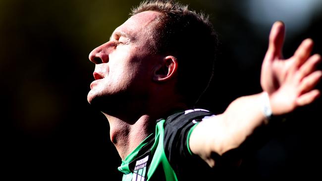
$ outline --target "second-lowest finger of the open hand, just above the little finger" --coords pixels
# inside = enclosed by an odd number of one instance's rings
[[[312,90],[319,83],[321,78],[322,78],[322,71],[320,70],[315,71],[312,74],[305,77],[299,86],[300,94],[303,94]]]

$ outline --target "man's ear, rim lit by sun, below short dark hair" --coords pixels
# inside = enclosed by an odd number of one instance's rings
[[[178,61],[174,56],[164,57],[160,64],[155,67],[153,80],[164,82],[174,78],[178,69]]]

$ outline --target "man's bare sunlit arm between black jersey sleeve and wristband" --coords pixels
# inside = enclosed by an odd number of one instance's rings
[[[263,92],[237,98],[214,120],[199,123],[190,136],[191,151],[214,166],[214,153],[221,156],[240,147],[257,128],[269,124],[263,113],[263,101]]]

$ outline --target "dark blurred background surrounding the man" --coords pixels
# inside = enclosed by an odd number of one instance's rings
[[[140,0],[0,0],[1,169],[11,179],[121,179],[109,126],[86,96],[89,52],[108,41]],[[274,21],[286,24],[284,56],[305,38],[322,53],[321,0],[181,0],[211,15],[220,47],[215,80],[200,107],[221,113],[257,93]],[[320,66],[321,68],[321,66]],[[321,84],[318,85],[321,90]],[[260,150],[246,155],[245,179],[315,178],[320,172],[321,98],[289,115]]]

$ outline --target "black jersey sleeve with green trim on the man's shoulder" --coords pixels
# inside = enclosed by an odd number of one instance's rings
[[[163,139],[164,152],[172,169],[180,178],[179,180],[203,178],[205,175],[198,173],[204,173],[210,169],[204,160],[190,151],[188,138],[196,124],[205,116],[212,115],[208,111],[193,111],[177,113],[166,119]]]

